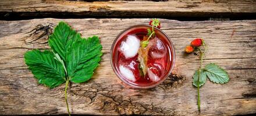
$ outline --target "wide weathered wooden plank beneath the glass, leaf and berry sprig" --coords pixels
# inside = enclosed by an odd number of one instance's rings
[[[68,101],[72,114],[92,115],[242,115],[256,113],[256,20],[162,21],[162,30],[176,49],[172,75],[153,89],[131,89],[113,73],[109,52],[115,37],[130,24],[149,19],[65,19],[83,37],[99,35],[103,46],[101,65],[93,79],[70,84]],[[0,21],[0,114],[66,114],[65,85],[48,89],[24,64],[24,53],[49,49],[47,40],[59,19]],[[191,84],[200,61],[184,55],[193,38],[209,45],[204,64],[216,63],[230,75],[227,84],[207,81],[201,90]]]

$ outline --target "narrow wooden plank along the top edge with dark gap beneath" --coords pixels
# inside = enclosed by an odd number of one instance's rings
[[[1,0],[0,16],[243,17],[256,15],[255,0],[57,1]]]

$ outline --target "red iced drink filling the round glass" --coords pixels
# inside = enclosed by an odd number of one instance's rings
[[[127,28],[116,37],[111,48],[111,64],[116,75],[133,88],[152,88],[163,82],[175,63],[175,51],[168,36],[154,28],[155,36],[146,47],[147,28],[138,25]]]

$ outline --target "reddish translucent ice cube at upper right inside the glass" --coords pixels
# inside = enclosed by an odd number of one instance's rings
[[[154,45],[151,46],[151,48],[150,48],[150,56],[153,59],[159,59],[159,58],[162,58],[163,56],[165,56],[166,55],[166,47],[165,47],[165,45],[163,45],[163,42],[158,38],[154,38],[154,40],[152,40],[152,42],[154,42]]]

